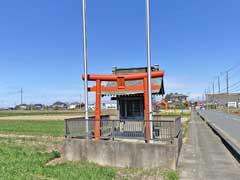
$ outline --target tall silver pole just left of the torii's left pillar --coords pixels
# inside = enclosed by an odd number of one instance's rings
[[[85,120],[86,136],[88,138],[88,69],[87,69],[87,20],[86,20],[86,0],[82,0],[82,28],[83,28],[83,58],[84,58],[84,101],[85,101]]]

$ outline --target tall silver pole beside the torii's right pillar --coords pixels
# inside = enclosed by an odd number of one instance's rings
[[[146,31],[147,31],[147,73],[148,73],[148,111],[150,139],[153,138],[152,129],[152,68],[151,68],[151,35],[150,35],[150,0],[146,0]]]

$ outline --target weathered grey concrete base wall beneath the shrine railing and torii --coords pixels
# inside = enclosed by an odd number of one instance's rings
[[[113,167],[176,169],[181,143],[181,133],[169,145],[66,139],[64,158]]]

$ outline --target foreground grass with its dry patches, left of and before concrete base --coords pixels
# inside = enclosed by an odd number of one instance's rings
[[[88,162],[49,162],[60,157],[63,143],[57,138],[0,137],[0,180],[178,180],[176,171],[168,169],[112,168]],[[53,146],[56,145],[56,146]]]

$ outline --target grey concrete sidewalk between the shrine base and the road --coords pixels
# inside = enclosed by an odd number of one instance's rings
[[[240,165],[194,112],[179,159],[181,179],[240,180]]]

